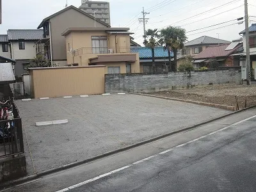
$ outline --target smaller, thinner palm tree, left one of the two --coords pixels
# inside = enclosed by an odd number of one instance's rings
[[[148,29],[146,31],[146,40],[143,42],[145,47],[148,47],[152,51],[152,70],[156,72],[156,64],[155,64],[155,47],[159,45],[159,31],[157,29]]]

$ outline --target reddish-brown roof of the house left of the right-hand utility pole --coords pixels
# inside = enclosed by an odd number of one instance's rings
[[[239,49],[242,44],[237,45],[234,49],[225,51],[229,44],[226,45],[214,45],[211,47],[207,47],[204,51],[197,54],[193,57],[195,60],[198,59],[207,59],[207,58],[218,58],[218,57],[226,57],[232,54],[232,52]]]

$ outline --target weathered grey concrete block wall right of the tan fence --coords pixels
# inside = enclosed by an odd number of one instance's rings
[[[170,72],[166,74],[106,74],[105,92],[151,93],[187,86],[241,83],[241,70]]]

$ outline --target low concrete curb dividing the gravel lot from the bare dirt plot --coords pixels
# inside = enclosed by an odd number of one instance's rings
[[[192,103],[192,104],[198,104],[198,105],[201,105],[201,106],[209,106],[209,107],[213,107],[213,108],[225,109],[225,110],[228,110],[228,111],[236,111],[236,107],[234,107],[234,106],[224,106],[224,105],[213,104],[213,103],[208,103],[208,102],[199,102],[199,101],[195,101],[195,100],[176,99],[176,98],[172,98],[172,97],[161,97],[161,96],[148,95],[148,94],[142,94],[142,93],[131,93],[131,94],[142,95],[142,96],[147,96],[147,97],[156,97],[156,98],[159,98],[159,99],[175,100],[175,101],[180,101],[180,102],[188,102],[188,103]]]

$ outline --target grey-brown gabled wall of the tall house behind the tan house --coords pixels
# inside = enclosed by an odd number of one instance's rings
[[[77,10],[69,9],[50,19],[52,39],[52,60],[67,60],[65,36],[61,33],[67,28],[94,28],[94,20]],[[97,28],[106,28],[103,24],[96,22]]]

